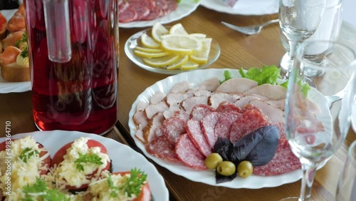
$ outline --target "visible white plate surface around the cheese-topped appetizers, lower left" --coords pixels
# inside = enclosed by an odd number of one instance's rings
[[[88,137],[93,140],[98,140],[100,143],[103,143],[108,150],[110,159],[112,160],[113,172],[123,172],[129,171],[131,168],[139,168],[147,173],[152,196],[155,197],[155,200],[169,200],[169,192],[162,175],[159,174],[155,166],[143,155],[132,150],[132,148],[127,145],[123,145],[110,138],[104,138],[100,135],[63,130],[21,133],[12,135],[11,139],[23,138],[26,135],[32,135],[38,143],[41,143],[48,150],[51,157],[53,157],[56,151],[63,145],[66,145],[66,143],[70,143],[77,138]],[[0,143],[5,139],[6,138],[0,138]]]

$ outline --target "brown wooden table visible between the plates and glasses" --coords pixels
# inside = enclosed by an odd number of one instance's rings
[[[191,15],[168,24],[168,26],[179,22],[189,32],[206,33],[219,42],[221,56],[209,68],[251,68],[272,64],[278,66],[285,53],[280,41],[278,24],[266,27],[255,36],[245,36],[220,24],[220,21],[241,26],[261,24],[277,17],[276,14],[234,16],[199,6]],[[340,40],[354,43],[356,47],[356,37],[350,34],[353,29],[351,26],[343,24]],[[125,55],[123,51],[125,41],[133,33],[141,30],[120,29],[119,120],[116,127],[105,135],[105,137],[126,143],[136,150],[128,128],[131,105],[145,88],[167,77],[167,75],[145,71],[132,63]],[[355,33],[355,30],[353,33]],[[33,123],[31,104],[30,91],[0,94],[0,128],[2,129],[0,137],[5,136],[4,130],[7,120],[11,121],[12,135],[38,130]],[[340,170],[345,162],[347,148],[353,140],[356,140],[356,135],[350,128],[347,139],[340,150],[322,169],[318,170],[313,184],[314,200],[333,200]],[[170,200],[280,200],[283,197],[298,196],[300,190],[300,180],[279,187],[265,187],[256,190],[215,187],[187,180],[185,177],[175,175],[159,165],[156,165],[156,167],[166,181]]]

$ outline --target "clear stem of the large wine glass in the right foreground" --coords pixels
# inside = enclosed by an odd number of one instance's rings
[[[303,169],[302,186],[300,187],[300,198],[299,201],[310,201],[311,199],[311,189],[313,186],[313,181],[315,177],[315,172],[318,168],[317,163],[312,163],[308,160],[300,159]]]

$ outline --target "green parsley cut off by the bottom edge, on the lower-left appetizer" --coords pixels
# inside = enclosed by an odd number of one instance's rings
[[[34,201],[41,198],[41,200],[62,201],[69,200],[69,198],[63,192],[59,192],[56,189],[49,189],[44,180],[36,178],[36,182],[32,185],[25,185],[22,190],[25,197],[22,201]]]

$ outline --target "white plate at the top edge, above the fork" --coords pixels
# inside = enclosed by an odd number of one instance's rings
[[[200,4],[226,14],[261,16],[278,13],[278,0],[238,0],[235,9],[226,5],[223,0],[201,0]]]

